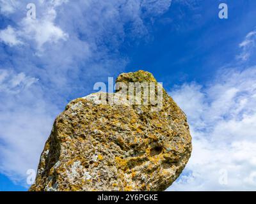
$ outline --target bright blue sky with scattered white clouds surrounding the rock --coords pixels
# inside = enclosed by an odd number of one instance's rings
[[[0,191],[28,189],[26,171],[68,101],[138,69],[163,82],[191,127],[193,154],[168,190],[256,189],[255,6],[0,0]]]

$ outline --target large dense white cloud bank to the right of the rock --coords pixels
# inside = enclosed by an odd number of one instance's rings
[[[184,84],[170,95],[188,116],[193,152],[169,190],[255,190],[256,67],[222,70],[207,87]]]

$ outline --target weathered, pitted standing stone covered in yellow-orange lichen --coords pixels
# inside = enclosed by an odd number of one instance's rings
[[[146,71],[123,73],[116,82],[153,82]],[[162,88],[161,88],[162,89]],[[163,191],[191,154],[186,115],[163,89],[154,105],[102,104],[127,96],[98,92],[68,103],[55,120],[29,191]]]

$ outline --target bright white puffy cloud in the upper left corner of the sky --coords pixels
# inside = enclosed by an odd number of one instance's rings
[[[8,25],[6,29],[0,31],[0,40],[10,46],[22,44],[20,40],[17,40],[18,38],[28,43],[33,40],[40,52],[44,51],[42,47],[45,43],[58,43],[59,40],[67,40],[68,34],[54,25],[56,7],[67,3],[67,1],[50,1],[49,3],[40,1],[40,4],[44,5],[43,3],[46,6],[44,6],[41,17],[31,19],[24,16],[18,23],[19,27],[16,30]],[[26,8],[26,4],[20,4],[20,8],[22,6]]]

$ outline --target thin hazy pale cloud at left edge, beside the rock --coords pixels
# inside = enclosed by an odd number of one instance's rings
[[[0,96],[0,171],[20,182],[36,168],[58,109],[36,78],[13,69],[0,69]]]

